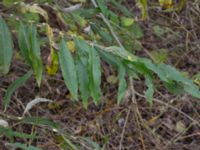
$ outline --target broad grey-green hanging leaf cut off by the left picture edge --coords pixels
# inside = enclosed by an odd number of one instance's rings
[[[0,75],[5,75],[9,72],[12,55],[13,43],[11,33],[3,18],[0,17]]]

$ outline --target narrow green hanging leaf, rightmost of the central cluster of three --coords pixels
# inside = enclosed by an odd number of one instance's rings
[[[89,89],[95,104],[98,104],[101,96],[101,62],[95,48],[90,49],[89,54]]]

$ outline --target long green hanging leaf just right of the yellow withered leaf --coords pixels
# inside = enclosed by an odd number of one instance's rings
[[[62,75],[72,97],[78,100],[78,80],[74,59],[64,40],[60,43],[58,53]]]

